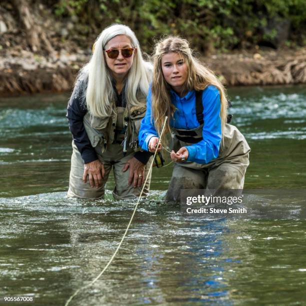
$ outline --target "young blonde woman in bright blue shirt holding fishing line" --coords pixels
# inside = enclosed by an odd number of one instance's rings
[[[153,81],[141,121],[139,145],[154,152],[165,116],[173,135],[175,162],[166,200],[179,200],[180,189],[242,189],[250,148],[228,124],[227,100],[215,75],[192,56],[185,39],[157,43]],[[162,143],[165,143],[163,137]]]

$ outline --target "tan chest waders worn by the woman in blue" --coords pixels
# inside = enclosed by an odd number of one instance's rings
[[[200,125],[193,129],[171,127],[173,134],[173,149],[177,151],[182,146],[197,143],[203,139],[202,128],[203,104],[202,91],[195,93],[196,118]],[[230,121],[231,115],[227,116]],[[225,123],[222,131],[222,141],[219,154],[208,163],[175,162],[172,177],[165,196],[167,201],[179,201],[181,189],[242,189],[244,174],[249,164],[248,146],[239,130]]]

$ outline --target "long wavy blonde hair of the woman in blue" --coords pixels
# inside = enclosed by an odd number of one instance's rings
[[[160,131],[165,116],[169,118],[172,117],[175,110],[174,105],[171,103],[170,86],[165,81],[161,69],[162,56],[169,52],[178,53],[187,65],[188,76],[186,82],[183,84],[183,90],[203,90],[208,85],[214,85],[218,88],[221,100],[221,129],[223,130],[223,126],[226,123],[228,107],[224,86],[211,70],[206,68],[192,55],[192,51],[186,39],[177,36],[169,36],[156,44],[153,55],[152,116],[156,131]],[[168,122],[166,131],[170,129]],[[162,140],[165,141],[165,139],[166,138],[163,137]]]

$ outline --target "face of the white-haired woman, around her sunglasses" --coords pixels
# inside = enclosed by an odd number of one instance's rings
[[[110,69],[112,76],[115,79],[121,79],[124,77],[129,68],[133,63],[133,58],[136,52],[134,49],[132,56],[123,57],[121,50],[119,50],[118,56],[116,58],[109,58],[105,50],[109,49],[121,49],[121,48],[132,48],[130,39],[125,35],[117,35],[109,39],[104,47],[104,57],[107,67]]]

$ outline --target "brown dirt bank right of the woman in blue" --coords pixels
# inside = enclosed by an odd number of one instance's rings
[[[306,48],[259,50],[203,58],[222,81],[234,85],[306,83]]]

